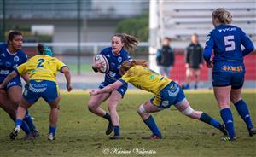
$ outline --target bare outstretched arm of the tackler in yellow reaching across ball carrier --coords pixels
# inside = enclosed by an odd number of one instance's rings
[[[113,90],[117,90],[120,86],[123,85],[123,82],[117,80],[113,84],[109,84],[108,86],[104,87],[103,89],[99,90],[91,90],[89,92],[90,96],[96,96],[102,93],[110,93]]]

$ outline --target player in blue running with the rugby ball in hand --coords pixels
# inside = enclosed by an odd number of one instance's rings
[[[137,44],[137,38],[123,34],[115,34],[112,37],[111,47],[103,49],[100,54],[105,55],[109,63],[109,71],[105,74],[105,80],[99,86],[100,89],[106,87],[108,84],[112,84],[118,80],[121,76],[119,74],[119,68],[124,61],[131,61],[131,56],[128,54],[127,50],[134,49]],[[125,50],[126,49],[126,50]],[[93,59],[92,68],[95,72],[102,66],[101,62],[95,61]],[[109,135],[114,131],[113,137],[110,139],[120,139],[119,133],[119,115],[117,113],[118,102],[125,95],[127,90],[127,84],[122,84],[118,89],[112,92],[102,93],[97,96],[91,96],[88,104],[88,109],[90,112],[96,115],[108,119],[108,128],[106,135]],[[100,108],[102,102],[108,101],[109,113]]]

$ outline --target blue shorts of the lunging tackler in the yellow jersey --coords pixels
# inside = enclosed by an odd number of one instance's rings
[[[173,104],[182,102],[185,99],[185,95],[181,87],[175,82],[171,82],[160,91],[160,94],[150,99],[150,102],[161,109],[170,108]]]

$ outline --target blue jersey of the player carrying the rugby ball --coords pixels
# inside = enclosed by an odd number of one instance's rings
[[[109,63],[109,71],[105,74],[105,82],[112,84],[119,78],[119,68],[124,61],[131,61],[131,56],[127,53],[125,49],[121,49],[118,55],[113,54],[112,47],[102,49],[100,54],[105,55]]]

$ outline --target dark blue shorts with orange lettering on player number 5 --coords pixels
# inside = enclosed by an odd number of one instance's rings
[[[214,63],[215,64],[215,63]],[[231,85],[232,89],[240,89],[244,83],[245,67],[242,62],[221,62],[212,70],[212,86]]]

